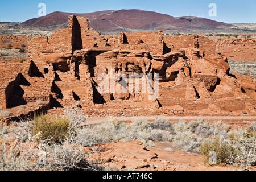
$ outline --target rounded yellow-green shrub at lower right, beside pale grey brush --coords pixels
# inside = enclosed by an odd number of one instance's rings
[[[199,147],[199,152],[203,156],[205,163],[209,163],[209,159],[212,157],[210,155],[211,151],[216,152],[216,164],[220,164],[228,160],[232,149],[228,142],[216,135],[212,139],[205,140]]]

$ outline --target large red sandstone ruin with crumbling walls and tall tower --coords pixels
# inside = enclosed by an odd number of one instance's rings
[[[71,15],[69,26],[51,37],[32,39],[27,61],[1,65],[2,109],[14,120],[80,107],[92,116],[255,115],[253,76],[231,75],[216,43],[204,36],[158,32],[102,36],[86,18]],[[101,73],[159,74],[159,97],[147,93],[104,93]],[[115,79],[115,84],[118,84]],[[127,87],[133,86],[127,84]],[[42,103],[39,103],[42,101]],[[25,108],[25,109],[24,109]]]

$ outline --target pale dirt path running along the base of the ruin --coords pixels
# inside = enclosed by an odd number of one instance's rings
[[[96,124],[101,121],[104,121],[105,118],[108,117],[92,117],[88,118],[88,124]],[[131,121],[134,118],[143,118],[147,120],[154,120],[155,116],[139,116],[139,117],[115,117],[120,121]],[[253,122],[256,121],[256,116],[164,116],[164,118],[169,120],[197,120],[197,119],[204,119],[206,121],[240,121],[240,122]]]

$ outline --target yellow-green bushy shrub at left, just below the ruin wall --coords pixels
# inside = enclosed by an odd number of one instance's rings
[[[39,135],[40,140],[61,142],[69,137],[71,124],[67,118],[49,118],[46,114],[36,115],[32,135]]]

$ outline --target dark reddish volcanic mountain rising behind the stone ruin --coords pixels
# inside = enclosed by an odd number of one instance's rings
[[[34,18],[21,23],[22,26],[51,27],[51,30],[68,26],[68,15],[56,11],[44,17]],[[186,16],[175,18],[167,14],[143,10],[97,11],[94,13],[75,14],[89,19],[90,28],[110,33],[119,31],[156,31],[190,32],[195,30],[223,30],[232,28],[230,24],[216,22],[210,19]]]

